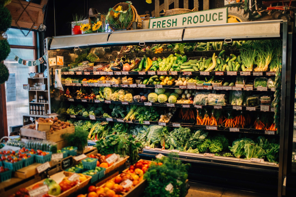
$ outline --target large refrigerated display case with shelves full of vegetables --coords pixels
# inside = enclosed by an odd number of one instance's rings
[[[287,44],[282,20],[46,38],[49,113],[88,131],[124,125],[141,158],[190,163],[189,181],[281,196]]]

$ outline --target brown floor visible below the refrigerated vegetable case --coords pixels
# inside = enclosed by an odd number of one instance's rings
[[[241,190],[231,190],[222,187],[189,183],[190,189],[186,197],[273,197]]]

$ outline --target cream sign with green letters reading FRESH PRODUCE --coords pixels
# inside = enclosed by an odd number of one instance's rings
[[[227,8],[190,12],[150,19],[149,29],[188,27],[227,23]]]

